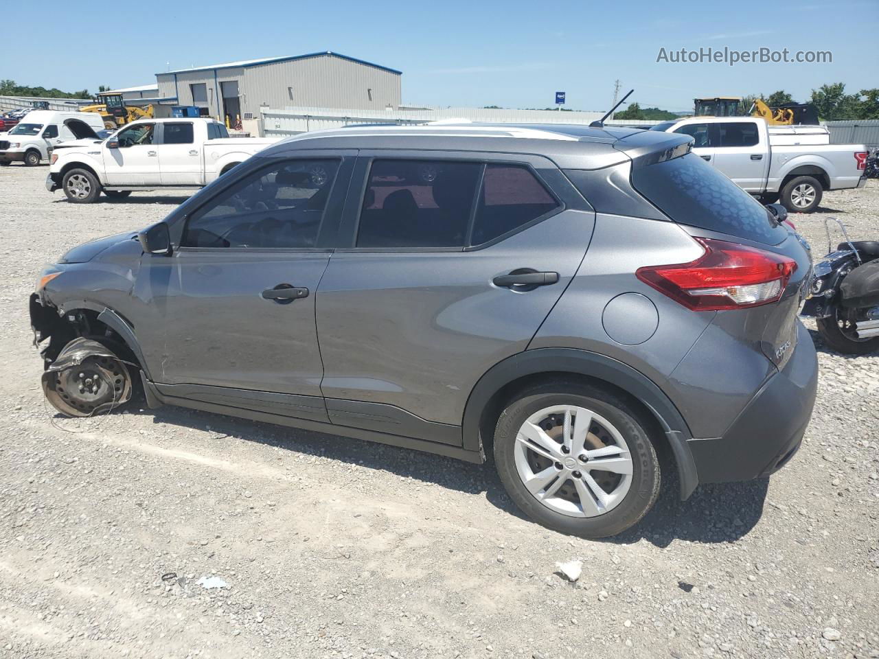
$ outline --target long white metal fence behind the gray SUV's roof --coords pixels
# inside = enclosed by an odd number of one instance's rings
[[[339,110],[326,107],[291,107],[283,110],[263,107],[260,112],[262,133],[266,137],[307,133],[324,128],[341,128],[360,124],[418,126],[428,121],[488,121],[513,124],[581,124],[601,119],[601,112],[554,112],[552,110],[499,110],[477,107],[445,107],[387,110]],[[608,121],[608,125],[650,127],[657,121]]]

